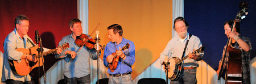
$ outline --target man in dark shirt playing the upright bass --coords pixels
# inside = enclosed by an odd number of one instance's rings
[[[224,30],[225,35],[227,37],[230,37],[232,39],[232,43],[230,44],[230,47],[240,49],[241,50],[241,59],[242,59],[242,83],[243,84],[250,84],[250,52],[251,52],[251,41],[248,37],[244,37],[240,34],[240,24],[237,22],[236,26],[234,27],[234,31],[231,31],[231,28],[233,24],[233,20],[228,20],[224,23]],[[225,50],[226,47],[224,47]],[[223,51],[224,54],[225,51]],[[222,55],[223,56],[223,55]],[[222,57],[223,58],[223,57]],[[222,68],[226,68],[226,64],[228,57],[225,58],[224,66]],[[220,73],[222,60],[220,60],[217,74]],[[222,69],[223,71],[223,69]]]

